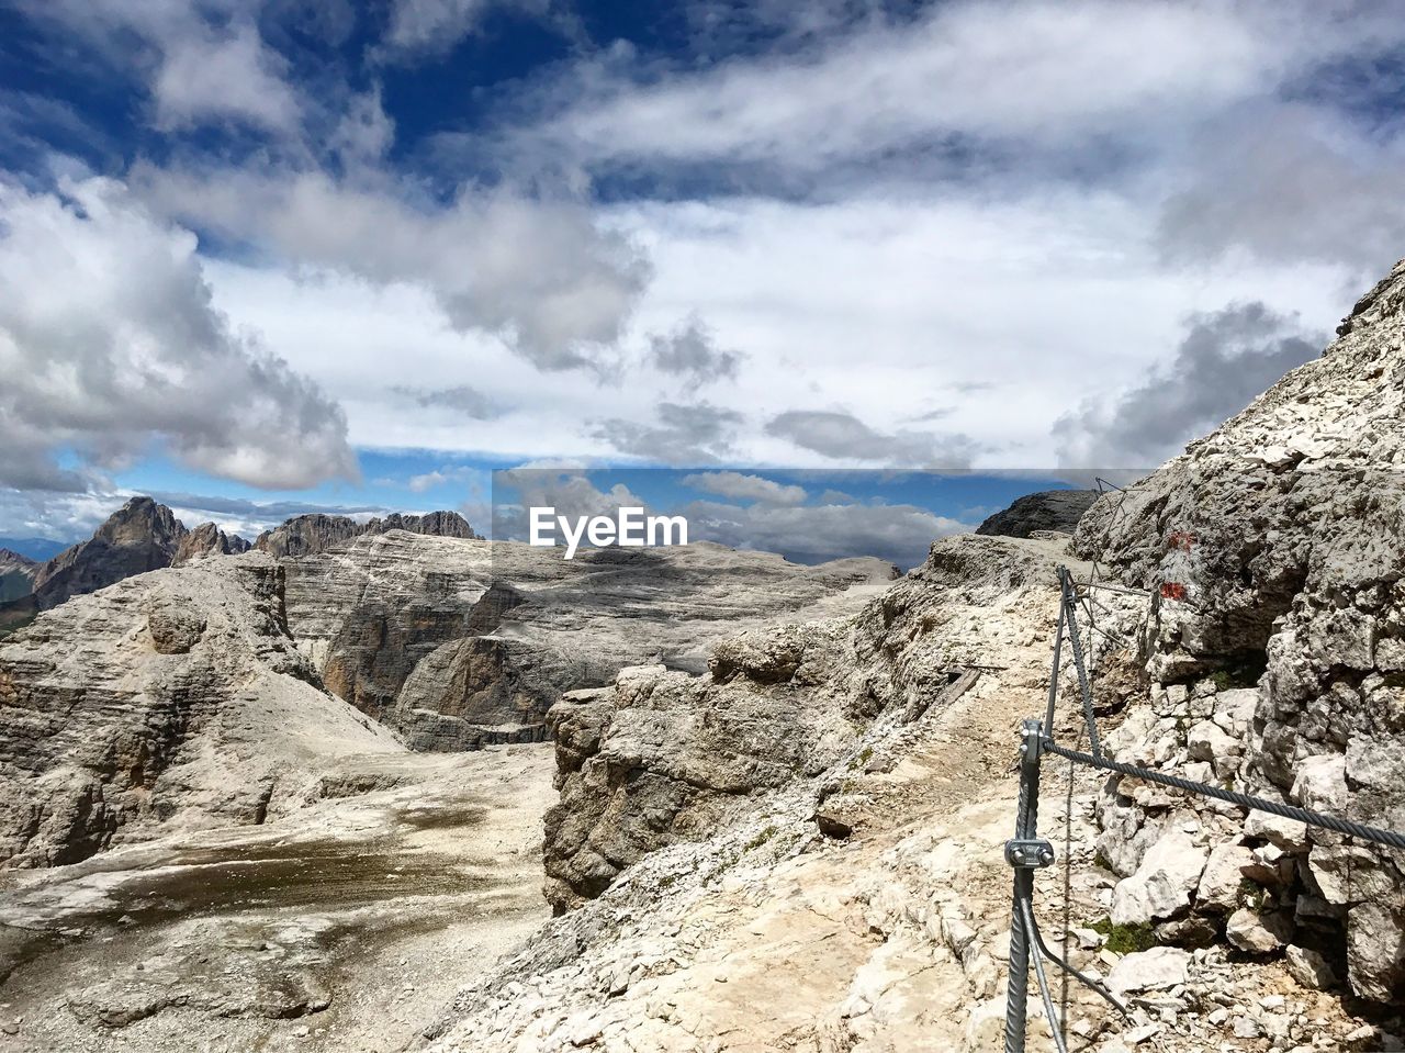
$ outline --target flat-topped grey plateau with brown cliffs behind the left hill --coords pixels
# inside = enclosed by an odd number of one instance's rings
[[[894,575],[878,560],[804,567],[705,543],[566,561],[403,530],[282,562],[289,628],[326,686],[414,749],[538,741],[565,690],[639,662],[701,671],[726,634],[851,613]]]

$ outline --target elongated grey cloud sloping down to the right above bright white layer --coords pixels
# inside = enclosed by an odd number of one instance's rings
[[[447,207],[315,172],[133,172],[166,212],[285,266],[433,292],[457,329],[493,333],[542,370],[611,361],[649,276],[635,246],[569,201],[464,187]]]

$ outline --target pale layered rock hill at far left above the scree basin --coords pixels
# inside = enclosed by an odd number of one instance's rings
[[[402,751],[313,686],[264,555],[74,596],[0,641],[0,860],[81,860],[157,824],[261,822],[327,758]]]

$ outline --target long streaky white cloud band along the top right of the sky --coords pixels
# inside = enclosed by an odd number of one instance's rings
[[[922,150],[979,172],[984,150],[1172,145],[1176,129],[1272,91],[1312,62],[1399,41],[1385,13],[1333,4],[1127,0],[946,3],[870,20],[798,52],[698,72],[636,69],[631,51],[575,67],[504,128],[521,156],[594,164],[759,164],[791,176]],[[1113,160],[1113,157],[1109,157]],[[871,167],[857,173],[873,183]]]

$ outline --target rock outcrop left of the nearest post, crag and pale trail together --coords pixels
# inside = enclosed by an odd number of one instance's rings
[[[1066,558],[1054,538],[950,538],[857,616],[568,696],[552,721],[570,807],[547,848],[566,910],[472,980],[429,1049],[998,1049],[1010,761],[1044,704]],[[1041,872],[1041,896],[1068,896],[1058,877]],[[1096,904],[1075,886],[1072,917]],[[1089,936],[1079,967],[1102,953]],[[1078,988],[1068,1012],[1097,1036],[1104,1009]]]

